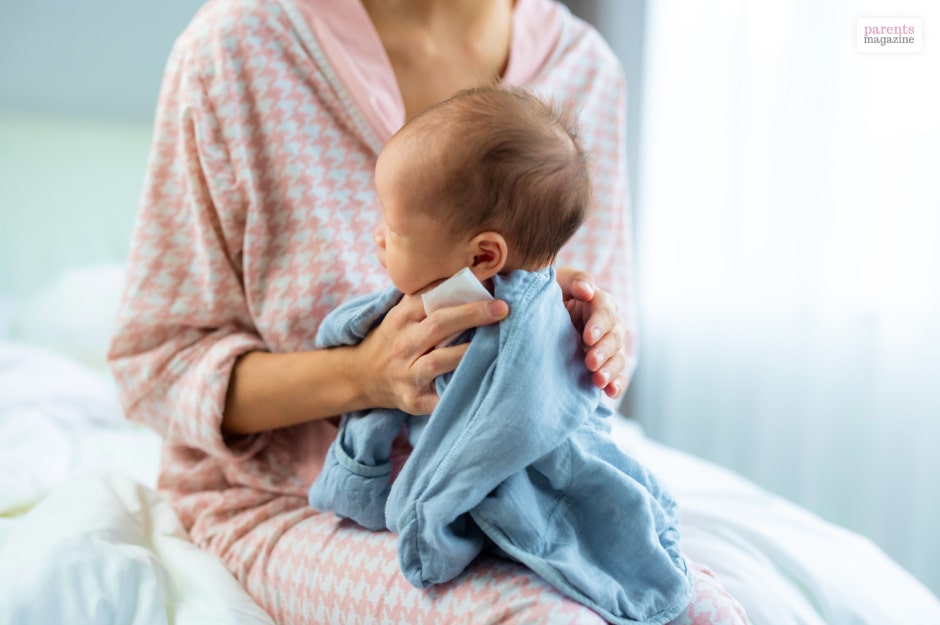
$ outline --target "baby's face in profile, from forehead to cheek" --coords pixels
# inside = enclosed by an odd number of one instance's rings
[[[432,164],[394,140],[375,166],[375,187],[385,217],[373,235],[377,255],[392,282],[407,295],[424,291],[466,265],[461,241],[421,206],[427,194],[415,188],[422,178],[415,172],[428,166]]]

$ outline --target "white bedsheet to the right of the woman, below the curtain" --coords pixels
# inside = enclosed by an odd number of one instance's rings
[[[940,602],[866,538],[620,422],[621,446],[679,502],[682,546],[755,625],[940,624]]]

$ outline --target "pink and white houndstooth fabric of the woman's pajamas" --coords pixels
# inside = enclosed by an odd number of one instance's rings
[[[581,111],[601,207],[562,261],[628,312],[623,80],[596,33],[567,14],[562,24],[525,86]],[[369,145],[274,0],[212,0],[177,41],[109,353],[129,417],[164,437],[160,486],[193,541],[279,623],[597,623],[508,562],[410,587],[392,535],[306,505],[329,422],[221,435],[239,355],[312,349],[327,311],[387,285],[371,253]],[[681,623],[743,622],[712,577],[698,579]]]

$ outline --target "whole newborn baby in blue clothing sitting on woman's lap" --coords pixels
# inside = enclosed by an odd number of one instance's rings
[[[517,89],[463,91],[406,124],[379,155],[379,259],[395,289],[346,302],[318,345],[355,343],[402,293],[425,308],[510,306],[468,333],[428,417],[343,415],[311,506],[399,534],[415,586],[449,581],[489,549],[612,623],[665,623],[687,605],[675,503],[609,437],[553,261],[591,204],[570,123]],[[467,340],[460,337],[458,340]],[[414,449],[391,480],[402,426]]]

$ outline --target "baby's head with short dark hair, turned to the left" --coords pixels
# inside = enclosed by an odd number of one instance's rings
[[[550,265],[591,204],[573,125],[529,93],[461,91],[407,123],[375,168],[379,259],[411,294],[464,267],[485,281]]]

